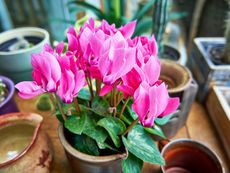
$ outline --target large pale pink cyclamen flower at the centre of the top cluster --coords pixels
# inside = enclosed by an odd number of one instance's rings
[[[129,47],[119,31],[105,40],[98,62],[103,82],[112,85],[131,71],[135,65],[135,54],[136,48]]]

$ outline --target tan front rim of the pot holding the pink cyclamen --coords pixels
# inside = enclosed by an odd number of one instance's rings
[[[75,148],[73,148],[66,140],[64,135],[64,127],[63,124],[60,124],[58,127],[58,135],[59,139],[61,141],[61,144],[63,145],[64,149],[71,154],[72,156],[78,158],[81,161],[84,162],[90,162],[90,163],[104,163],[109,161],[114,161],[122,158],[126,158],[128,156],[127,151],[126,153],[122,154],[113,154],[109,156],[92,156],[85,153],[82,153]]]

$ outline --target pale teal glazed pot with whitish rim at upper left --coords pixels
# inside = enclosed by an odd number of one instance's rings
[[[23,27],[1,33],[0,74],[14,83],[31,80],[31,54],[39,53],[45,43],[49,43],[49,34],[41,28]]]

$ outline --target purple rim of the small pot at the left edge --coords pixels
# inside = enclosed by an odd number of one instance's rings
[[[9,90],[9,94],[7,95],[5,100],[3,100],[3,102],[0,103],[0,108],[2,108],[13,97],[15,88],[14,88],[14,82],[10,78],[0,75],[0,79],[2,79],[3,83],[6,84],[7,89]]]

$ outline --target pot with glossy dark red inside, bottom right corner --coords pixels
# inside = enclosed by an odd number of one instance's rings
[[[218,156],[204,144],[178,139],[166,144],[162,150],[165,166],[163,173],[225,173]]]

